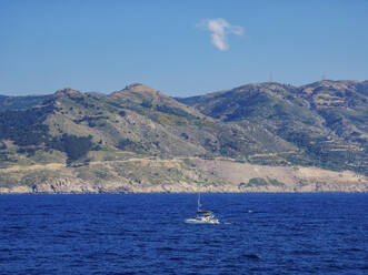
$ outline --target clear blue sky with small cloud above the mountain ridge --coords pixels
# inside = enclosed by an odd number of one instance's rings
[[[368,79],[368,0],[0,0],[0,94]]]

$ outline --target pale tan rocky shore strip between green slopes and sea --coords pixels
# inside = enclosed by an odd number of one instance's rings
[[[119,166],[119,165],[120,166]],[[22,179],[1,186],[1,194],[82,194],[82,193],[250,193],[250,192],[368,192],[367,176],[351,171],[318,167],[267,166],[228,160],[158,161],[135,160],[136,173],[126,173],[122,163],[90,164],[82,169],[58,167],[34,180],[30,172],[12,171]],[[126,165],[126,164],[125,164]],[[106,169],[106,170],[102,170]],[[30,170],[33,174],[34,170]],[[106,171],[103,179],[86,173]],[[39,170],[41,173],[46,173]],[[118,175],[119,173],[119,175]],[[115,176],[112,176],[115,175]],[[159,175],[159,177],[158,177]],[[19,184],[22,183],[22,184]]]

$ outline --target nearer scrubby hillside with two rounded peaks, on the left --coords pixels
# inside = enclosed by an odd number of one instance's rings
[[[36,106],[1,112],[0,129],[2,165],[54,162],[56,155],[71,165],[103,155],[243,159],[277,151],[245,126],[206,116],[142,84],[109,95],[63,89]],[[288,146],[276,143],[278,150]]]

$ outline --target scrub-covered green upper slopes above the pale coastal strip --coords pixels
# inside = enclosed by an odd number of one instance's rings
[[[222,156],[368,173],[367,86],[271,82],[175,100],[136,83],[109,95],[63,89],[29,102],[12,98],[12,108],[0,109],[0,160],[10,166]]]

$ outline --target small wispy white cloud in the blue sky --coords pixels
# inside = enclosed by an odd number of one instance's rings
[[[227,34],[242,35],[243,29],[240,26],[232,26],[222,18],[205,19],[197,27],[211,32],[211,43],[220,51],[229,49]]]

